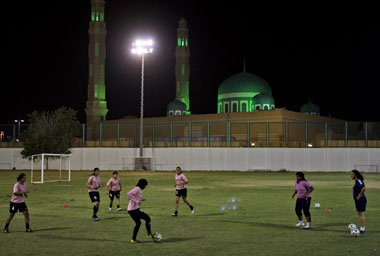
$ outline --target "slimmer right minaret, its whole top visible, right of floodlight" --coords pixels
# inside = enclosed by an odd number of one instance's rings
[[[177,47],[175,50],[176,65],[176,100],[186,104],[186,112],[190,114],[189,78],[190,48],[186,20],[182,18],[177,28]]]

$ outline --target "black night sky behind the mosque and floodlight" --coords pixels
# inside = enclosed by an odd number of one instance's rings
[[[166,115],[175,97],[176,29],[184,17],[193,114],[216,113],[218,86],[242,72],[245,61],[247,72],[269,83],[277,108],[299,111],[310,97],[322,115],[380,121],[378,21],[205,2],[107,1],[107,119],[139,115],[141,61],[129,52],[142,36],[155,41],[146,58],[145,115]],[[2,4],[12,15],[2,40],[0,124],[61,106],[77,110],[84,122],[90,0]]]

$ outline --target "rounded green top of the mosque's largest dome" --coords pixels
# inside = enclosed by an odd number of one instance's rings
[[[268,83],[254,74],[241,72],[224,80],[218,89],[218,95],[225,93],[265,93],[272,95],[272,90]]]

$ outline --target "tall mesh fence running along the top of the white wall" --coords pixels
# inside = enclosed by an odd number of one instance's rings
[[[79,127],[73,147],[139,147],[139,124]],[[23,147],[30,125],[0,125],[0,147]],[[144,147],[380,148],[380,122],[188,122],[144,124]]]

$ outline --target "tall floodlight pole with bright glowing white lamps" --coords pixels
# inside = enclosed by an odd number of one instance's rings
[[[132,44],[132,54],[141,56],[141,106],[140,106],[140,169],[143,169],[143,138],[144,138],[144,56],[153,52],[152,40],[136,40]]]

